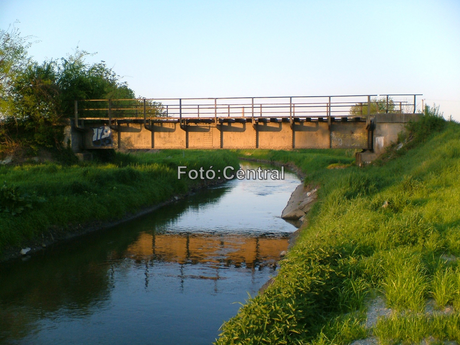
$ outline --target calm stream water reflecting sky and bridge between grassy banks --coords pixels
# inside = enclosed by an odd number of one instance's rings
[[[0,265],[0,343],[211,344],[274,275],[297,184],[232,180]]]

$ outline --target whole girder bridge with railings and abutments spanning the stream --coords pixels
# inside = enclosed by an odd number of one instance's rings
[[[335,95],[75,101],[75,152],[92,149],[358,149],[380,152],[417,120],[416,97]]]

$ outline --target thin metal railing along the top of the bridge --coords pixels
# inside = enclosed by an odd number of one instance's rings
[[[334,95],[227,98],[136,98],[75,101],[78,120],[217,119],[224,117],[298,118],[368,117],[375,113],[415,113],[421,94]],[[368,105],[370,106],[368,107]],[[321,120],[320,120],[321,119]]]

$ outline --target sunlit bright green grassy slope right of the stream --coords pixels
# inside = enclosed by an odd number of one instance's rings
[[[274,284],[217,344],[460,341],[460,126],[433,123],[365,168],[326,169],[336,161],[310,151],[251,155],[294,162],[321,185],[319,201]],[[391,316],[366,328],[379,295]]]

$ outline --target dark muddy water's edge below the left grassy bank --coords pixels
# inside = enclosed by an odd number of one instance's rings
[[[19,258],[29,258],[32,254],[40,253],[50,246],[58,245],[60,243],[70,241],[76,237],[84,236],[86,234],[96,232],[96,231],[106,230],[114,226],[117,226],[119,224],[123,224],[132,219],[136,219],[148,213],[151,213],[161,207],[173,204],[174,202],[184,199],[185,197],[190,196],[192,193],[195,193],[199,190],[203,190],[210,186],[222,184],[224,182],[226,182],[225,179],[224,180],[216,179],[216,180],[208,180],[208,181],[205,180],[202,183],[191,186],[190,190],[188,190],[184,194],[175,194],[171,196],[171,198],[167,201],[163,201],[163,202],[160,202],[158,204],[151,205],[148,207],[143,207],[140,211],[136,213],[126,213],[120,219],[108,220],[108,221],[98,220],[98,221],[92,221],[92,222],[87,222],[87,223],[78,224],[78,225],[75,224],[75,225],[68,226],[66,228],[63,226],[60,226],[60,227],[52,226],[49,229],[49,237],[46,237],[42,241],[40,241],[45,246],[43,246],[40,243],[37,243],[35,239],[35,240],[24,242],[24,244],[21,247],[4,248],[0,256],[0,264],[15,260],[15,259],[19,259]],[[23,248],[30,248],[30,250],[25,255],[23,255],[20,253],[21,249]]]

